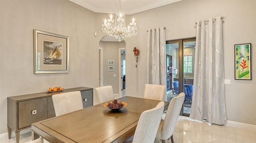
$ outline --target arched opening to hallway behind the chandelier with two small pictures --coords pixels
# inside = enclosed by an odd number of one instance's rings
[[[125,50],[125,41],[116,41],[111,36],[104,36],[99,42],[99,86],[111,85],[113,88],[114,96],[121,97],[125,95],[122,93],[123,75],[121,63],[122,56],[120,50]],[[104,50],[103,50],[104,49]],[[124,59],[124,56],[123,56]],[[109,61],[113,61],[112,64]],[[124,67],[124,66],[123,66]],[[111,69],[109,69],[111,68]]]

